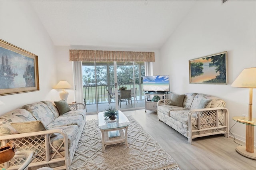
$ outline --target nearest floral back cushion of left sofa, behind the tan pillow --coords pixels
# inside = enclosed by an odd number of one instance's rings
[[[0,136],[18,134],[18,131],[10,123],[27,121],[36,121],[36,119],[25,109],[15,109],[0,116]]]

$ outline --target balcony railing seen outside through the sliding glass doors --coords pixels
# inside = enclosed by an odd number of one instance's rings
[[[133,88],[133,84],[126,84],[126,85],[118,85],[118,89],[123,86],[125,86],[127,89]],[[135,87],[137,87],[137,95],[141,95],[141,93],[139,93],[139,89],[142,89],[142,88],[139,88],[140,86],[143,87],[143,85],[135,84]],[[108,103],[108,100],[110,100],[107,89],[108,89],[107,85],[97,86],[98,103]],[[83,87],[83,93],[84,93],[83,97],[85,99],[86,105],[96,104],[95,90],[96,90],[95,86]],[[112,91],[114,92],[114,89],[112,89]],[[139,97],[138,99],[141,99],[141,97]]]

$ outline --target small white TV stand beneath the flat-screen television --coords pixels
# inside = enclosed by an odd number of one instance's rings
[[[157,102],[151,101],[152,96],[159,96],[162,99],[168,99],[170,92],[144,92],[145,99],[145,113],[147,110],[157,111]]]

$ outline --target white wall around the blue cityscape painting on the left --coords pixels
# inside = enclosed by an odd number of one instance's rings
[[[28,1],[0,0],[0,39],[38,55],[40,83],[40,91],[0,96],[0,115],[57,93],[54,45],[32,9]]]

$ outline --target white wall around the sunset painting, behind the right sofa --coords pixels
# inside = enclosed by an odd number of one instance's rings
[[[188,60],[228,51],[228,85],[190,84]],[[171,91],[206,93],[226,101],[230,127],[234,116],[248,115],[248,89],[230,87],[239,73],[256,67],[256,1],[197,1],[160,50],[161,73],[170,74]],[[256,89],[253,117],[256,117]],[[231,132],[245,141],[245,125]],[[254,134],[256,143],[256,133]]]

